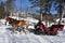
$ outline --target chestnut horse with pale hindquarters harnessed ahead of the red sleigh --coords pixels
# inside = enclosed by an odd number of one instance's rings
[[[16,27],[21,27],[22,29],[21,29],[21,31],[20,31],[20,33],[22,33],[22,31],[24,31],[25,33],[27,33],[27,30],[28,30],[28,22],[27,20],[16,20],[16,19],[13,19],[13,18],[11,18],[11,17],[8,17],[6,18],[6,22],[9,22],[9,24],[11,24],[12,25],[12,30],[13,30],[13,32],[12,33],[15,33],[15,28]]]

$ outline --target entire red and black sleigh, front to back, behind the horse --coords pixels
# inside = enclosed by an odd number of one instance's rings
[[[40,25],[38,26],[39,28],[35,27],[35,33],[44,33],[44,34],[48,34],[48,35],[56,35],[57,34],[57,30],[63,30],[63,27],[64,25],[52,25],[51,27],[46,27],[44,25]]]

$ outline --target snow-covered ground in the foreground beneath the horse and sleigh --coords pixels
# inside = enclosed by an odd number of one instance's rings
[[[0,43],[65,43],[65,30],[58,31],[57,35],[36,35],[11,33],[11,26],[0,25]]]

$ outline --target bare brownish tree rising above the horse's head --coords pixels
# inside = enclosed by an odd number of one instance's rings
[[[6,12],[6,17],[10,15],[9,13],[15,10],[15,0],[6,0],[4,2],[4,6],[5,6],[5,12]]]

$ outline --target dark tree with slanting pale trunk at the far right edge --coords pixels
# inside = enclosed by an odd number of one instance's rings
[[[54,0],[54,2],[55,2],[55,5],[58,4],[55,9],[60,14],[60,22],[58,22],[58,25],[60,25],[63,17],[63,9],[64,9],[65,0]]]

